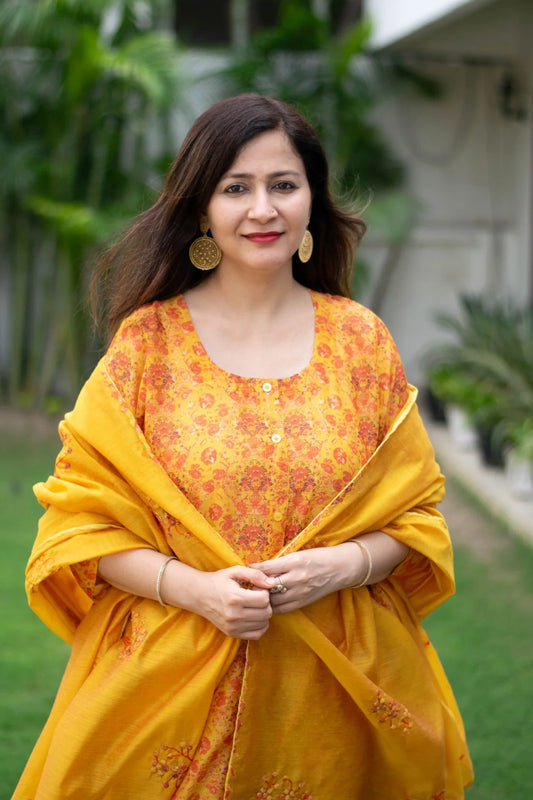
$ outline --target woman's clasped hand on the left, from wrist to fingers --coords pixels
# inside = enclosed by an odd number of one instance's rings
[[[266,633],[272,616],[269,589],[276,585],[275,579],[258,569],[236,566],[198,572],[194,582],[192,610],[226,636],[259,639]]]

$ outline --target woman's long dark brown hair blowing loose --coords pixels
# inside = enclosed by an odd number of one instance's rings
[[[108,334],[136,308],[180,294],[205,279],[206,273],[188,257],[200,216],[240,148],[270,130],[281,130],[290,139],[304,163],[313,198],[313,255],[307,264],[293,257],[294,278],[309,289],[350,296],[364,222],[334,202],[326,156],[309,122],[275,98],[242,94],[215,103],[196,120],[157,201],[133,220],[97,264],[91,307]]]

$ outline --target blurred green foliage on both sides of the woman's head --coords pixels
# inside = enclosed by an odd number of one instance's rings
[[[401,246],[414,207],[373,121],[392,71],[365,56],[368,22],[341,24],[343,0],[331,0],[323,17],[311,6],[283,0],[276,26],[226,51],[229,66],[208,76],[209,88],[275,94],[301,110],[325,145],[337,193],[358,209],[372,197],[370,224]],[[8,295],[0,401],[70,404],[94,364],[86,266],[153,201],[178,145],[173,115],[192,116],[196,79],[185,74],[168,15],[164,0],[0,5],[0,285]],[[356,296],[366,275],[358,264]]]

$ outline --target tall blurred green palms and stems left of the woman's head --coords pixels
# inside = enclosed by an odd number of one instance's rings
[[[158,3],[7,0],[0,6],[0,205],[12,404],[69,400],[91,334],[84,265],[146,205],[171,149],[177,46]]]

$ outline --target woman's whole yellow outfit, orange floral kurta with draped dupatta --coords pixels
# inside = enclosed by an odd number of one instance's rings
[[[17,800],[463,796],[419,622],[453,591],[443,478],[382,324],[313,299],[311,363],[281,381],[218,370],[182,299],[141,309],[62,423],[28,592],[73,650]],[[95,582],[96,559],[139,546],[213,570],[372,530],[412,548],[388,580],[258,642]]]

